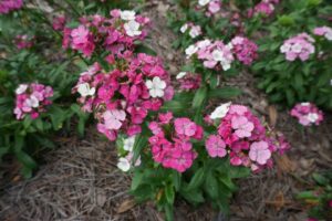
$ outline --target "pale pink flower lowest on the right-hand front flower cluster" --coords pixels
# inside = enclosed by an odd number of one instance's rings
[[[249,157],[251,160],[257,161],[260,165],[266,165],[268,159],[271,158],[271,151],[269,149],[268,143],[252,143],[249,150]]]

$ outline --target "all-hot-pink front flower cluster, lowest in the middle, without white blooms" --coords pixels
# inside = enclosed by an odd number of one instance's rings
[[[197,157],[190,139],[201,139],[203,128],[189,118],[173,118],[172,113],[159,114],[157,122],[148,128],[153,133],[148,143],[156,162],[165,168],[184,172],[191,167]]]

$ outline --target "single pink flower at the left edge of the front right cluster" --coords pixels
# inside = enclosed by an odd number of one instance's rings
[[[205,143],[205,146],[210,157],[225,157],[227,154],[226,144],[220,136],[209,136]]]

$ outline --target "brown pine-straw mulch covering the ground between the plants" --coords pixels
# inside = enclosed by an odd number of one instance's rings
[[[184,52],[170,46],[176,35],[166,28],[167,10],[172,9],[164,1],[148,1],[146,15],[154,22],[148,44],[175,75],[185,57]],[[243,94],[236,102],[251,106],[292,145],[286,156],[276,157],[273,169],[238,182],[230,220],[305,220],[303,207],[294,196],[311,187],[313,171],[331,169],[331,114],[326,114],[324,124],[315,130],[301,133],[287,112],[268,104],[266,96],[256,90],[250,74],[242,73],[226,84],[240,87]],[[152,203],[135,204],[127,193],[131,178],[116,168],[114,145],[103,140],[94,128],[87,130],[83,140],[63,138],[60,144],[59,149],[45,155],[46,164],[32,179],[14,181],[11,187],[0,181],[0,186],[6,187],[0,196],[0,220],[164,220]],[[184,201],[177,201],[175,213],[179,221],[226,220],[208,204],[191,208]]]

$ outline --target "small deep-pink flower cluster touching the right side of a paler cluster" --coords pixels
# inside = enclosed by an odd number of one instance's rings
[[[231,40],[232,52],[245,65],[250,65],[258,57],[258,46],[247,38],[236,36]]]

